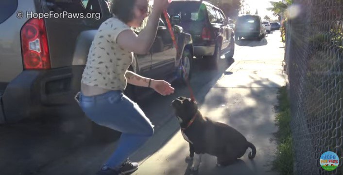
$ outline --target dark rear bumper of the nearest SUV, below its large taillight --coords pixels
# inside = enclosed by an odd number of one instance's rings
[[[76,104],[73,96],[80,90],[84,66],[51,70],[25,70],[5,88],[0,123],[38,117],[51,106]]]

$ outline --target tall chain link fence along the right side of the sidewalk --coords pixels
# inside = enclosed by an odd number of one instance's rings
[[[343,175],[343,0],[294,0],[286,30],[294,171]],[[320,157],[335,152],[339,167]]]

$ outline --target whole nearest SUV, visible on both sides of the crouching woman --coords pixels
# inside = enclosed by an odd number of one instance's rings
[[[107,0],[7,0],[0,7],[0,124],[39,117],[75,105],[87,54],[97,29],[112,16]],[[100,13],[96,18],[18,18],[17,12]],[[25,15],[25,14],[24,14]],[[137,55],[130,69],[151,78],[183,79],[191,73],[190,34],[173,26],[178,52],[161,18],[151,53]],[[125,93],[133,97],[137,89]],[[81,110],[80,110],[81,112]]]

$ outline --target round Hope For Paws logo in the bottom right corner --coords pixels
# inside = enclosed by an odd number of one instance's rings
[[[340,159],[336,153],[327,151],[320,157],[320,165],[326,171],[335,170],[340,163]]]

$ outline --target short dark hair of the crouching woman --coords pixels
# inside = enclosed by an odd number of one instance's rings
[[[124,23],[128,23],[134,19],[133,9],[136,0],[111,0],[111,12],[116,15]]]

